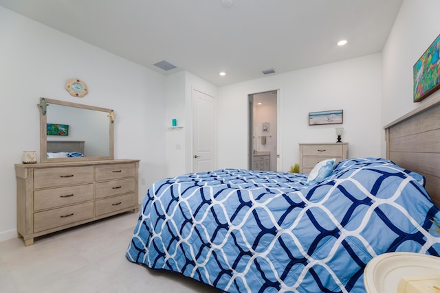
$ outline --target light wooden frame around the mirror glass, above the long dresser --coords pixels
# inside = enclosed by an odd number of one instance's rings
[[[50,104],[56,104],[61,106],[69,106],[75,108],[83,108],[87,110],[96,110],[108,113],[109,117],[109,156],[85,156],[80,158],[47,158],[47,113],[46,106],[50,110]],[[52,162],[72,162],[72,161],[103,161],[103,160],[113,160],[114,159],[114,112],[111,109],[101,108],[96,106],[88,106],[83,104],[76,104],[72,102],[59,101],[57,99],[47,99],[45,97],[40,98],[40,104],[38,104],[40,109],[40,161],[41,163],[52,163]],[[44,115],[43,115],[44,113]]]

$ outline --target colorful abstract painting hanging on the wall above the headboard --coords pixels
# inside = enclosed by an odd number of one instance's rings
[[[440,35],[413,67],[414,102],[420,102],[440,87]]]

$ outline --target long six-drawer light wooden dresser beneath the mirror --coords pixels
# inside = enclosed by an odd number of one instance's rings
[[[125,211],[139,211],[139,160],[16,164],[17,232],[39,237]]]

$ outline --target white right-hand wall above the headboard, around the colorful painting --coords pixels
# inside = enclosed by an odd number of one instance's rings
[[[440,1],[404,0],[382,52],[382,126],[440,95],[412,102],[412,67],[440,34]],[[382,154],[385,142],[382,141]]]

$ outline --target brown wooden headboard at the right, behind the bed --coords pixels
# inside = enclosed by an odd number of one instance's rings
[[[388,124],[386,157],[426,178],[426,191],[440,207],[440,97]]]

